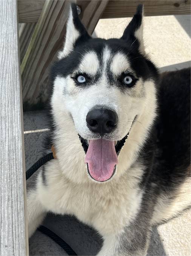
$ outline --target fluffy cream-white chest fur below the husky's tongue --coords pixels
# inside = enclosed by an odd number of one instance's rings
[[[137,171],[142,173],[138,166],[129,168],[118,181],[99,183],[89,180],[77,184],[59,171],[55,159],[46,164],[46,185],[39,176],[37,195],[46,210],[73,214],[103,235],[118,232],[136,217],[139,210],[142,191],[133,175]]]

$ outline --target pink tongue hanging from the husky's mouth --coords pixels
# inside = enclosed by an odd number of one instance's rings
[[[115,141],[90,140],[85,163],[88,163],[89,173],[96,181],[109,179],[118,163]]]

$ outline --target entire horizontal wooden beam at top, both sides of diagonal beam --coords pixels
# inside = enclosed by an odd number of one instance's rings
[[[37,22],[44,2],[44,0],[18,0],[19,22]],[[77,1],[80,6],[86,6],[86,2],[89,1]],[[139,3],[143,3],[145,6],[145,16],[191,13],[190,0],[110,0],[103,12],[102,19],[132,17]]]

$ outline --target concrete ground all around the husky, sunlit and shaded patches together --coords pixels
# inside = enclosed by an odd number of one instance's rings
[[[120,37],[130,19],[100,20],[95,34],[100,37]],[[190,66],[191,39],[190,16],[145,17],[144,38],[146,51],[161,71],[176,70]],[[95,35],[94,34],[94,35]],[[25,112],[26,169],[42,154],[42,141],[48,126],[45,112]],[[100,246],[100,239],[94,231],[71,217],[49,216],[45,225],[54,229],[64,238],[78,255],[93,255]],[[60,224],[62,223],[62,224]],[[148,255],[188,256],[191,255],[191,210],[174,218],[152,232]],[[42,249],[45,237],[39,232],[30,239],[31,255],[67,255],[58,245],[48,240]]]

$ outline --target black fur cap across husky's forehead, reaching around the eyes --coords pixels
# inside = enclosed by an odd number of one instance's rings
[[[146,59],[143,55],[141,55],[137,49],[132,48],[131,44],[122,39],[89,39],[83,45],[78,45],[75,47],[74,51],[72,51],[68,56],[54,63],[51,69],[51,81],[53,82],[57,75],[62,77],[66,77],[68,75],[72,75],[77,71],[80,63],[82,61],[83,55],[87,52],[94,51],[100,61],[101,69],[97,72],[97,74],[89,79],[84,84],[78,84],[77,86],[86,88],[93,84],[95,84],[99,79],[102,72],[102,52],[105,46],[111,50],[111,58],[107,63],[107,78],[108,78],[108,86],[118,86],[122,91],[129,90],[128,86],[124,86],[121,82],[119,82],[120,77],[116,77],[112,74],[110,70],[112,57],[121,52],[125,56],[128,57],[128,61],[131,69],[134,71],[136,77],[134,81],[142,78],[143,81],[152,79],[157,81],[158,73],[154,64],[151,63],[148,59]],[[101,52],[101,53],[100,53]],[[100,81],[101,83],[101,81]]]

